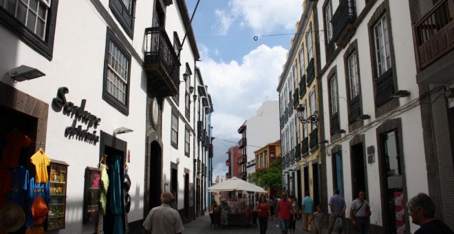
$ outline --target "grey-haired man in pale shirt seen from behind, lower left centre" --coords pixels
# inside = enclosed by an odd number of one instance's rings
[[[161,206],[151,209],[144,221],[144,229],[152,234],[181,234],[184,230],[180,213],[170,204],[173,195],[167,191],[161,193]]]

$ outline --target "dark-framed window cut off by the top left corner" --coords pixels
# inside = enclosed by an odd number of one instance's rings
[[[0,0],[0,23],[52,59],[58,0]]]

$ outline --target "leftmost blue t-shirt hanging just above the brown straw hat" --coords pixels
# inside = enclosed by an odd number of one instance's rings
[[[8,193],[8,201],[16,202],[23,207],[28,188],[28,171],[22,166],[11,171],[11,190]]]

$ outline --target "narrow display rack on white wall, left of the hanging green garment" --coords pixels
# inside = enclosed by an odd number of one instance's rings
[[[95,167],[85,168],[85,186],[83,199],[83,223],[90,224],[99,220],[100,170]]]

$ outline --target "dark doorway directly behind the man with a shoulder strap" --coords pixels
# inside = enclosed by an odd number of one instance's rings
[[[363,143],[352,146],[352,193],[356,198],[360,190],[367,191]]]

